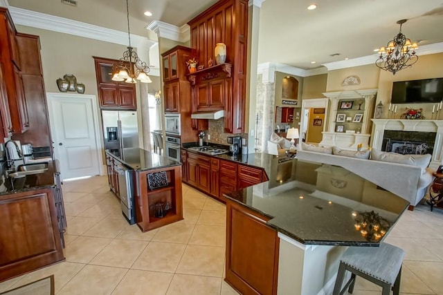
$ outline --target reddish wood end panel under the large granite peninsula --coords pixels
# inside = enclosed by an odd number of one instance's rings
[[[279,239],[269,220],[226,202],[226,282],[240,294],[277,294]]]

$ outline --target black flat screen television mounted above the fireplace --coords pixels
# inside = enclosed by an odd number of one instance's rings
[[[394,82],[392,104],[441,102],[443,100],[443,78]]]

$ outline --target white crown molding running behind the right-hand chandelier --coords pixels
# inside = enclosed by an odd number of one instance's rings
[[[417,55],[433,55],[435,53],[443,53],[443,42],[419,46]],[[338,70],[341,68],[352,68],[354,66],[365,66],[367,64],[375,64],[379,55],[367,55],[365,57],[357,57],[341,61],[328,62],[323,64],[327,70]]]

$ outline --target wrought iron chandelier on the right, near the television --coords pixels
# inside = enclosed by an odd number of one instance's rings
[[[381,47],[379,50],[379,58],[375,61],[375,64],[383,69],[392,72],[393,75],[399,70],[409,68],[415,64],[418,60],[415,55],[415,49],[418,48],[417,43],[412,44],[410,39],[406,38],[401,33],[401,25],[406,23],[407,19],[400,19],[397,23],[400,25],[399,33],[393,40],[388,42],[388,45]],[[384,64],[383,64],[384,62]],[[381,66],[383,64],[383,66]]]

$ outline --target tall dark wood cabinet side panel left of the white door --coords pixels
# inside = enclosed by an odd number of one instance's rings
[[[32,143],[33,146],[52,147],[39,37],[18,32],[16,38],[21,61],[21,82],[26,97],[24,111],[29,127],[25,133],[12,135],[12,139]]]

